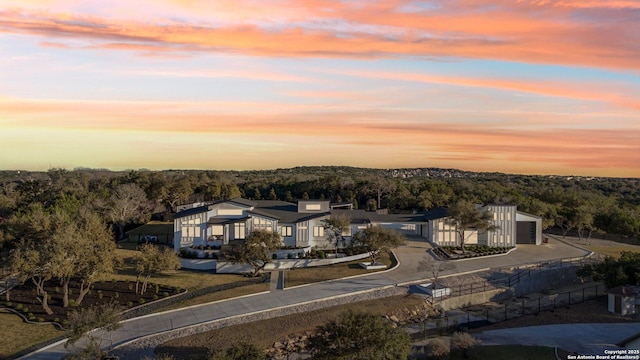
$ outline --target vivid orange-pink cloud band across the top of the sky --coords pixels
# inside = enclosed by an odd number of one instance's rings
[[[216,2],[217,3],[217,2]],[[179,8],[200,2],[179,2]],[[235,14],[234,24],[204,25],[166,19],[118,21],[88,15],[5,10],[0,31],[64,41],[81,38],[88,47],[157,52],[239,52],[259,56],[389,57],[447,56],[639,69],[636,19],[626,2],[598,13],[570,7],[577,2],[436,2],[436,10],[404,11],[409,1],[278,1],[212,5],[202,16]],[[566,4],[566,5],[562,5]],[[604,2],[591,2],[604,4]],[[491,5],[491,6],[489,6]],[[562,6],[560,6],[562,5]],[[286,22],[276,10],[287,9]],[[215,12],[219,11],[219,12]],[[250,11],[256,11],[250,16]],[[573,13],[577,12],[577,13]],[[614,13],[612,13],[614,12]],[[269,15],[283,22],[266,25]],[[293,20],[295,15],[298,20]],[[583,20],[576,20],[582,17]],[[335,25],[324,25],[335,24]],[[606,30],[606,31],[605,31]],[[96,43],[97,42],[97,43]]]

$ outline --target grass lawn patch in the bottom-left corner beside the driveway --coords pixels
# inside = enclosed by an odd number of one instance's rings
[[[17,315],[0,310],[0,334],[0,359],[5,359],[30,346],[64,335],[64,332],[51,324],[27,324]]]

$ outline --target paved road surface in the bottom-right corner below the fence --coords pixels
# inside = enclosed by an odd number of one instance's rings
[[[583,355],[605,355],[615,344],[640,333],[640,323],[561,324],[484,331],[475,335],[483,345],[544,345]]]

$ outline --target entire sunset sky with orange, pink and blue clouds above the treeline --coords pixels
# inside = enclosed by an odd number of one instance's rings
[[[640,177],[640,0],[0,0],[0,169]]]

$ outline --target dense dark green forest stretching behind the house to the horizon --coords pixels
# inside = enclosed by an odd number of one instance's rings
[[[296,167],[261,171],[51,169],[0,172],[0,244],[11,247],[3,224],[31,211],[95,213],[116,239],[151,219],[171,219],[193,201],[327,199],[355,208],[416,212],[457,199],[514,204],[542,216],[545,228],[640,237],[640,179],[474,173],[453,169]]]

